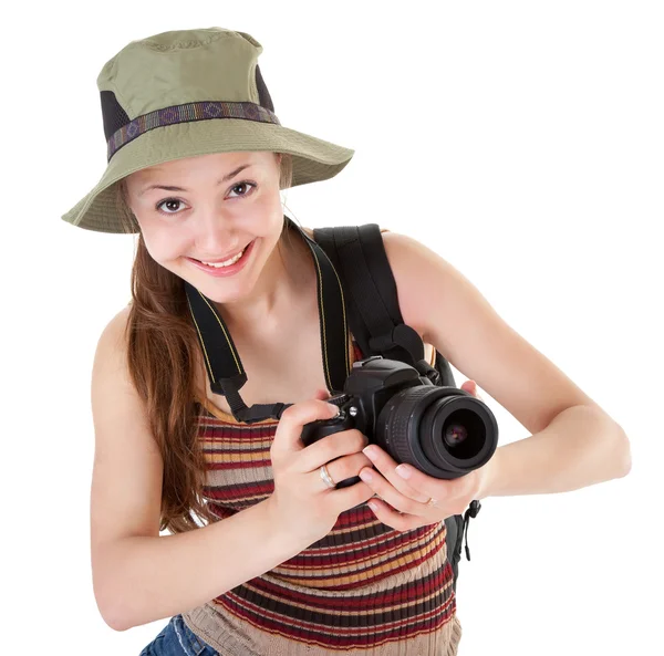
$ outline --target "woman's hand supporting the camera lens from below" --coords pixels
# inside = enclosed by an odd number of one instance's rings
[[[466,381],[461,389],[480,398],[474,381]],[[370,499],[370,508],[381,522],[397,531],[463,514],[470,501],[477,499],[486,475],[485,465],[459,478],[439,479],[411,465],[398,465],[377,445],[370,445],[364,452],[375,469],[365,467],[360,477],[380,497]],[[400,476],[402,469],[408,475],[406,478]]]

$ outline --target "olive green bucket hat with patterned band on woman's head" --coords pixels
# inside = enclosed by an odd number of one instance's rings
[[[107,166],[62,219],[100,232],[123,226],[116,184],[163,162],[210,153],[292,156],[292,186],[325,180],[354,150],[283,127],[258,66],[262,45],[224,28],[175,30],[132,41],[97,76]]]

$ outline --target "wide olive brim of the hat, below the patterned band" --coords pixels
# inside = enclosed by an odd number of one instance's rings
[[[292,155],[292,187],[332,178],[355,153],[273,123],[220,118],[162,126],[120,148],[92,191],[62,215],[62,219],[97,232],[127,232],[116,206],[115,185],[122,178],[163,162],[242,150]]]

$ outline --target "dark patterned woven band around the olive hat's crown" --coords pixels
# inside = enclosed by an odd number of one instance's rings
[[[256,103],[239,102],[225,103],[222,101],[204,101],[186,103],[156,110],[143,116],[136,116],[132,122],[115,131],[107,143],[107,160],[120,148],[139,137],[142,134],[164,125],[176,123],[191,123],[194,121],[209,121],[210,118],[242,118],[245,121],[259,121],[281,125],[273,112]]]

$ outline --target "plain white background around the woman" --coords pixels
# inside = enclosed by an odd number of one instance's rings
[[[288,190],[291,216],[422,240],[631,439],[626,478],[483,502],[460,563],[459,654],[661,653],[658,2],[14,11],[1,45],[3,650],[136,655],[167,622],[118,633],[95,605],[90,375],[102,329],[128,301],[134,243],[60,216],[105,167],[103,64],[131,40],[217,25],[263,45],[284,126],[356,152],[335,178]],[[501,444],[529,435],[480,395]]]

